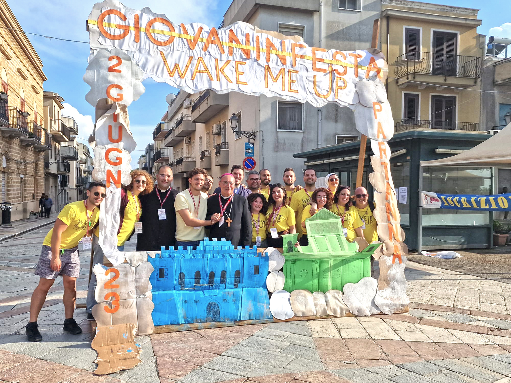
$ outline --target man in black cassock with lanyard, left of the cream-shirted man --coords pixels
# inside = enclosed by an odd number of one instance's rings
[[[162,165],[158,169],[156,185],[151,193],[141,196],[142,233],[137,234],[136,251],[151,251],[173,247],[176,241],[176,210],[174,200],[177,190],[171,184],[172,168]]]

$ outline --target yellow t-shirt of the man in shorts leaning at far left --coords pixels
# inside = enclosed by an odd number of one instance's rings
[[[67,228],[62,232],[60,248],[72,249],[78,246],[87,231],[89,235],[92,235],[92,228],[99,221],[99,208],[95,207],[93,211],[89,211],[88,224],[84,201],[68,203],[57,218],[67,225]],[[52,234],[53,228],[44,237],[43,245],[52,246]]]

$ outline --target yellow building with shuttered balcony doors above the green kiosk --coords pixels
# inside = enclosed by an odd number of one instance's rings
[[[478,10],[382,0],[381,49],[396,132],[479,131],[484,36]]]

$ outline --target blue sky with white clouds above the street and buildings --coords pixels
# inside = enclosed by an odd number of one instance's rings
[[[85,20],[95,3],[92,0],[7,0],[25,32],[85,42],[88,42]],[[156,13],[165,14],[173,23],[195,21],[217,27],[231,0],[123,0],[122,3],[133,9],[149,7]],[[480,9],[478,18],[482,19],[482,25],[478,28],[479,33],[511,38],[511,2],[508,0],[440,0],[431,3]],[[57,92],[64,98],[63,114],[76,119],[78,137],[86,140],[94,127],[94,108],[85,101],[90,88],[82,80],[90,53],[88,43],[33,35],[28,38],[48,77],[43,84],[44,90]],[[144,86],[145,93],[128,109],[130,129],[137,141],[136,149],[140,150],[132,153],[133,165],[147,143],[152,141],[154,127],[167,110],[165,96],[177,92],[168,84],[150,79],[144,81]]]

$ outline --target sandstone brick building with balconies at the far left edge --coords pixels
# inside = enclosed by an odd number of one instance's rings
[[[5,1],[0,2],[0,202],[11,221],[38,211],[44,153],[52,139],[42,126],[42,62]]]

